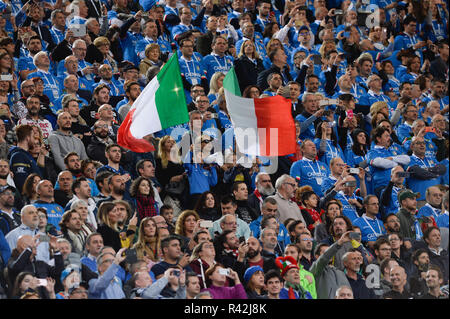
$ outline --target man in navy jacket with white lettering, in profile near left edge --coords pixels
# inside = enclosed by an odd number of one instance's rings
[[[41,168],[37,166],[36,161],[29,152],[36,143],[33,127],[31,125],[23,124],[16,126],[15,130],[17,135],[17,146],[11,147],[9,151],[9,166],[13,173],[14,185],[16,185],[16,188],[18,189],[23,189],[23,184],[28,175],[36,173],[39,176],[43,176],[43,172]]]

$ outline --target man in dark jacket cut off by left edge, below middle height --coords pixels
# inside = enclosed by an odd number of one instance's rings
[[[20,226],[20,212],[14,208],[15,191],[9,185],[0,187],[0,230],[4,235]]]

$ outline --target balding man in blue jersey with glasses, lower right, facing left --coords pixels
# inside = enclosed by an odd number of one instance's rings
[[[375,241],[386,234],[383,222],[377,218],[380,203],[375,195],[367,195],[363,201],[366,213],[353,221],[354,226],[361,229],[361,239],[372,248]]]

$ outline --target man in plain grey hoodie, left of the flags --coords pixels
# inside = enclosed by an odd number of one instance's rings
[[[64,157],[69,152],[79,154],[81,159],[88,159],[83,142],[72,134],[72,116],[68,112],[58,115],[58,130],[48,137],[48,143],[55,159],[55,163],[60,170],[66,168]]]

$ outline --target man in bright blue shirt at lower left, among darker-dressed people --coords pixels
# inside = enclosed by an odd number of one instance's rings
[[[48,223],[52,224],[59,231],[59,223],[64,213],[64,208],[55,203],[54,188],[52,182],[42,180],[36,186],[38,200],[34,202],[36,208],[44,207],[47,210]]]

